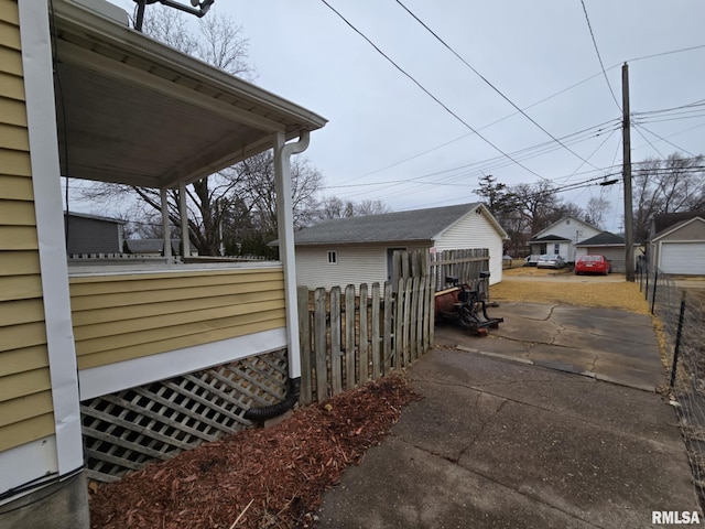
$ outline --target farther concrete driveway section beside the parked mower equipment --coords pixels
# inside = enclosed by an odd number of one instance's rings
[[[487,337],[436,325],[436,344],[653,391],[664,382],[651,316],[609,309],[502,303],[505,319]]]

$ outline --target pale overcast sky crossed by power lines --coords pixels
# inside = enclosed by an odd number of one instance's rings
[[[632,114],[705,102],[705,2],[584,1],[619,105],[625,61]],[[326,179],[325,194],[379,198],[403,210],[477,201],[474,190],[482,174],[508,185],[540,177],[565,185],[620,171],[611,166],[621,164],[621,115],[601,74],[581,0],[402,0],[554,137],[606,123],[599,136],[590,130],[563,139],[575,154],[516,114],[395,0],[328,2],[463,121],[481,129],[527,169],[471,133],[322,0],[216,0],[214,12],[230,14],[249,39],[256,84],[329,120],[312,134],[305,153]],[[115,3],[126,6],[122,0]],[[702,47],[638,60],[692,46]],[[705,151],[705,106],[679,112],[634,116],[648,131],[632,128],[632,161],[676,150],[652,133],[685,154]],[[533,156],[524,159],[527,153],[518,152],[546,142],[550,152],[542,155],[531,150]],[[412,179],[416,181],[397,183]],[[600,193],[614,205],[606,227],[618,230],[621,185],[561,196],[584,206]]]

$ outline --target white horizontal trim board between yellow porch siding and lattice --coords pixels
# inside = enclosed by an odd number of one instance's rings
[[[284,327],[221,339],[133,360],[82,369],[80,400],[219,366],[286,347]]]

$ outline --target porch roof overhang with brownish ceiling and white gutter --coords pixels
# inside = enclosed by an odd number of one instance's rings
[[[53,22],[67,176],[174,187],[326,123],[70,0],[54,1]]]

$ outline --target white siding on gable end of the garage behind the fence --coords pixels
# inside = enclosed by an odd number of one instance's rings
[[[437,250],[489,249],[489,283],[502,280],[503,244],[492,224],[481,214],[470,212],[446,229],[435,241]]]

